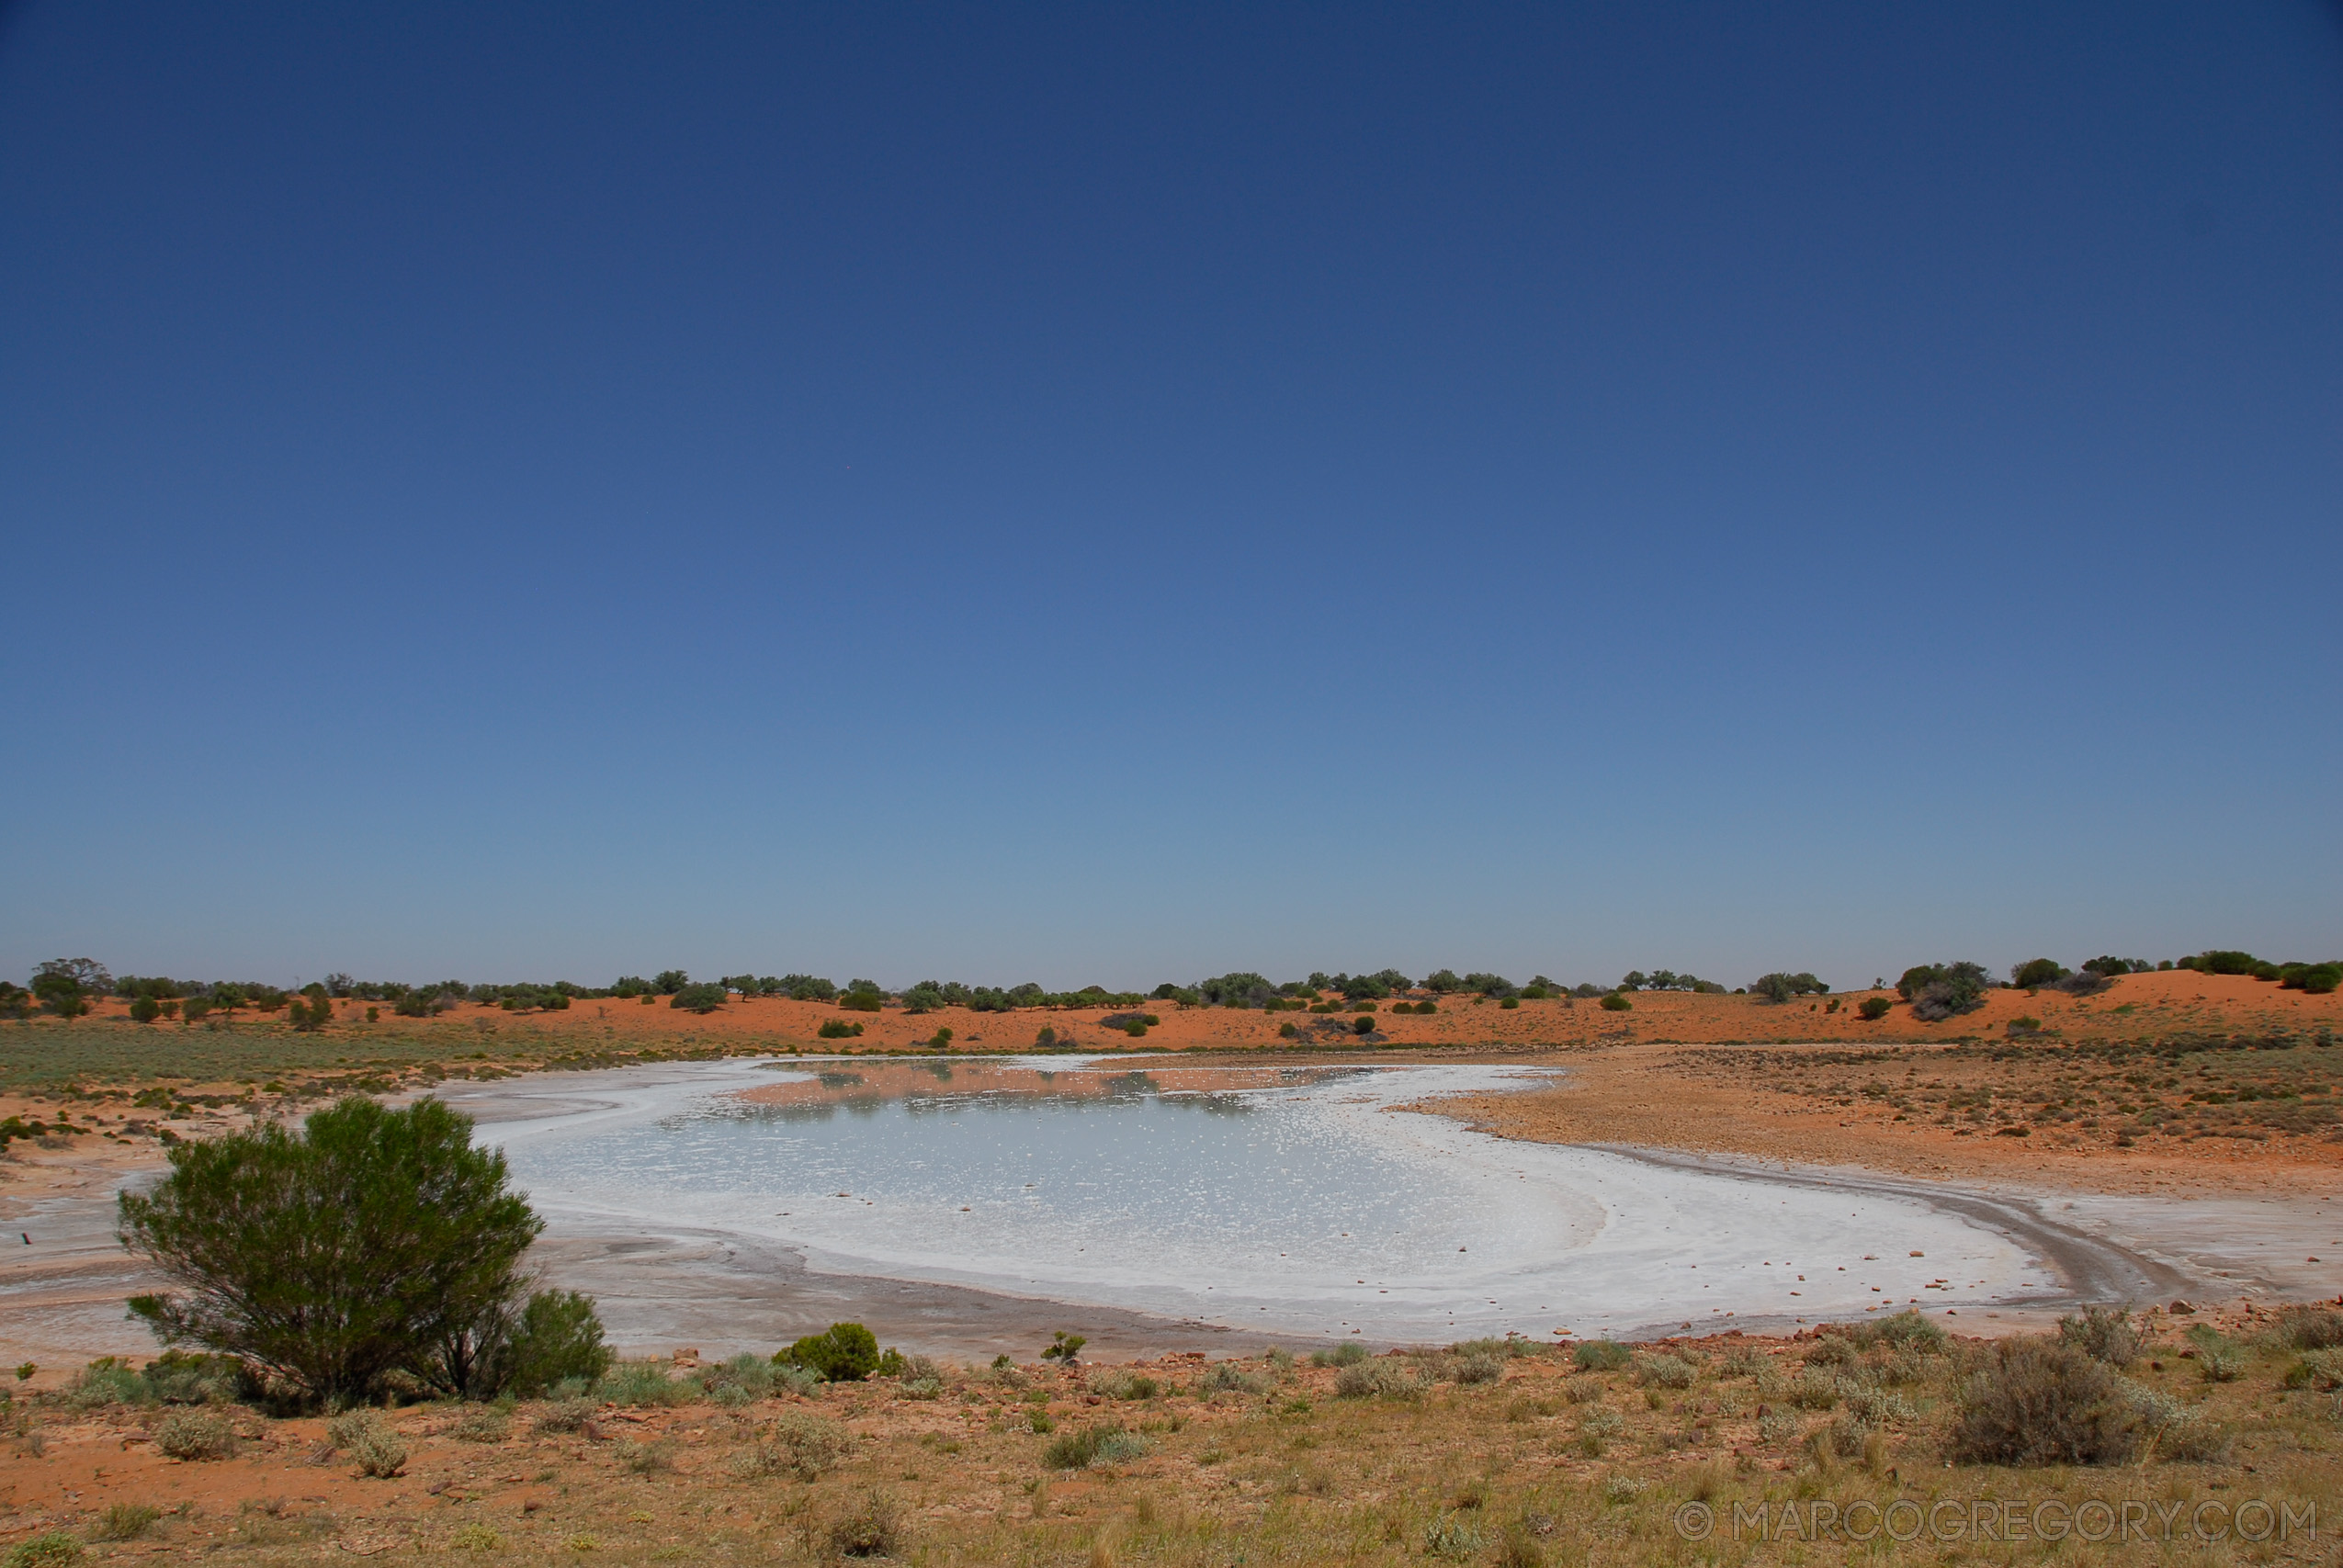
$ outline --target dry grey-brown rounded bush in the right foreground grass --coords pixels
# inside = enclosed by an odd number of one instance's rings
[[[2123,1465],[2139,1411],[2104,1362],[2055,1338],[2006,1338],[1961,1388],[1952,1458],[1963,1465]]]

